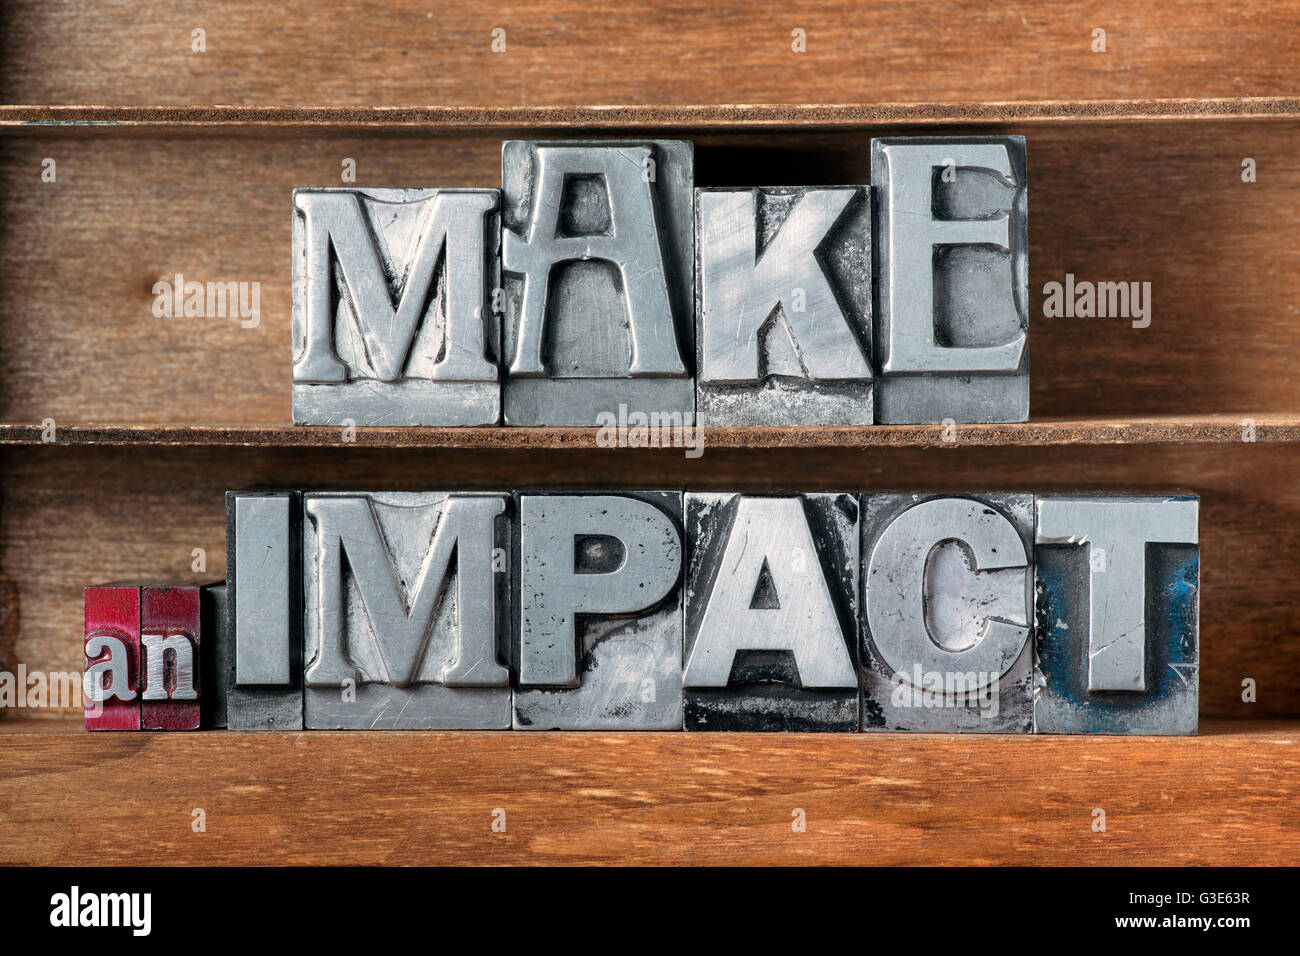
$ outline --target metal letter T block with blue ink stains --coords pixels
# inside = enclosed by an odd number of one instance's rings
[[[1039,734],[1195,734],[1199,499],[1040,497]]]

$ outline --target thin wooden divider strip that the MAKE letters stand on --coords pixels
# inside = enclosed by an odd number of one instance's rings
[[[1287,416],[1201,416],[1113,421],[1026,421],[1005,425],[871,425],[855,428],[706,428],[703,449],[871,449],[1149,445],[1243,442],[1253,423],[1256,442],[1300,441],[1300,419]],[[356,428],[344,440],[328,425],[60,425],[46,442],[39,424],[0,424],[0,445],[129,445],[198,447],[394,447],[482,450],[594,450],[595,428]],[[612,449],[611,449],[612,450]],[[664,451],[681,454],[680,447]]]

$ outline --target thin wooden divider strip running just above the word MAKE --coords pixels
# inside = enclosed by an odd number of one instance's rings
[[[0,129],[21,127],[420,127],[432,133],[546,130],[866,129],[1160,120],[1295,120],[1294,96],[1210,99],[1020,100],[1004,103],[854,103],[835,105],[590,107],[230,107],[0,105]]]

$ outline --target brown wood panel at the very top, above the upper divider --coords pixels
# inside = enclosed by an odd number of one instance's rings
[[[32,104],[1294,96],[1300,51],[1300,8],[1287,0],[14,0],[3,10],[0,101]],[[191,52],[195,29],[204,53]],[[1097,29],[1105,53],[1092,52]]]

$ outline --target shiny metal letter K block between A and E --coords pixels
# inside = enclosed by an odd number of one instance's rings
[[[871,190],[696,190],[703,425],[870,425]]]

